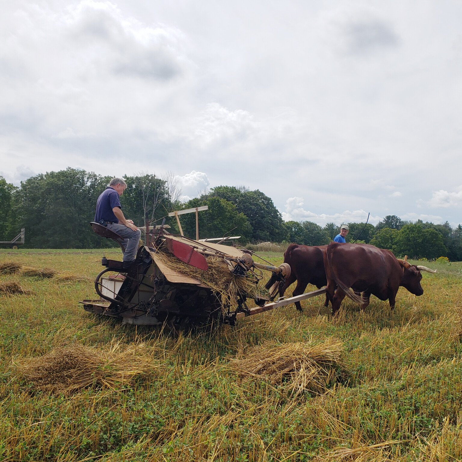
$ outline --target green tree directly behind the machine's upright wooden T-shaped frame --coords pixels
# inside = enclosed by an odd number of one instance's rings
[[[225,199],[209,197],[206,200],[200,198],[191,199],[184,204],[184,209],[208,206],[207,211],[199,212],[199,238],[242,236],[240,243],[246,243],[252,236],[252,226],[243,213],[237,211],[237,207]],[[195,239],[196,217],[195,213],[185,213],[180,216],[181,226],[185,236]]]

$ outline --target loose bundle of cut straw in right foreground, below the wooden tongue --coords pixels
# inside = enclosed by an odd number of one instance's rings
[[[253,348],[244,359],[232,359],[231,366],[241,377],[267,379],[273,384],[287,383],[294,395],[304,391],[321,393],[339,378],[343,363],[343,344],[328,339],[324,343],[286,343]]]

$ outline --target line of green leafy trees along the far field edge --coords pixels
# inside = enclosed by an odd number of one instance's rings
[[[186,203],[180,201],[181,188],[172,173],[162,177],[141,172],[124,176],[127,189],[121,197],[126,217],[136,225],[151,225],[163,219],[173,232],[176,220],[168,217],[174,210],[207,205],[199,213],[199,237],[240,235],[241,243],[279,242],[305,245],[329,243],[338,233],[339,224],[324,227],[310,221],[284,222],[273,201],[260,190],[244,186],[218,186]],[[111,176],[67,168],[32,176],[15,187],[0,176],[0,240],[12,239],[26,228],[25,247],[83,249],[100,248],[110,241],[97,236],[89,226],[94,218],[97,197]],[[195,237],[195,214],[181,216],[186,236]],[[404,221],[387,215],[376,226],[348,223],[347,242],[371,243],[390,249],[395,255],[433,259],[447,256],[462,261],[462,226],[452,229],[421,220]]]

